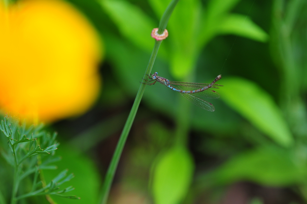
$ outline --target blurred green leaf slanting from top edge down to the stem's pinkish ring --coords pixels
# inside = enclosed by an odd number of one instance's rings
[[[150,33],[158,27],[140,8],[121,0],[101,0],[101,6],[110,15],[123,36],[146,51],[152,51],[154,39]]]

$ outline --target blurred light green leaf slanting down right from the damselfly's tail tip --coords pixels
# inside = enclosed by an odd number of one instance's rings
[[[293,136],[270,94],[252,81],[239,77],[223,78],[221,99],[255,127],[284,147],[293,144]]]

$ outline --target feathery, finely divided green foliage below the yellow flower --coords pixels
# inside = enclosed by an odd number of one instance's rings
[[[56,169],[53,163],[60,160],[60,157],[55,155],[55,150],[59,146],[56,141],[57,133],[51,135],[42,128],[42,124],[27,127],[25,121],[20,125],[18,117],[7,114],[1,121],[0,130],[3,133],[1,136],[6,136],[8,139],[7,148],[4,147],[1,154],[14,171],[11,204],[17,203],[20,199],[39,195],[80,199],[75,195],[64,194],[74,190],[72,186],[60,190],[60,185],[74,177],[73,174],[67,175],[68,170],[62,171],[47,184],[40,177],[40,171]],[[26,177],[33,179],[32,188],[29,192],[19,195],[18,190],[24,184],[23,180]],[[3,199],[2,203],[4,202]]]

